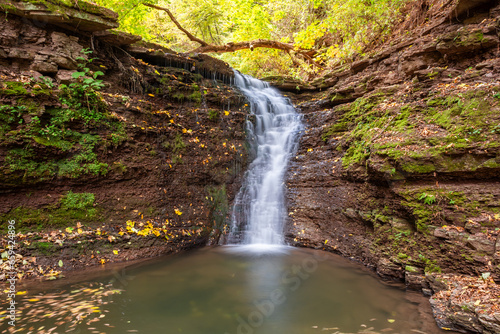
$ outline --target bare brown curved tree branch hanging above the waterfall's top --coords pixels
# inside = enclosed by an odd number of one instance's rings
[[[315,50],[306,50],[306,49],[297,49],[294,47],[292,43],[283,43],[283,42],[278,42],[278,41],[273,41],[273,40],[267,40],[267,39],[257,39],[253,41],[247,41],[247,42],[237,42],[237,43],[226,43],[224,45],[214,45],[205,42],[202,39],[199,39],[198,37],[194,36],[191,34],[189,31],[184,29],[181,24],[177,21],[177,19],[174,17],[172,12],[168,8],[165,7],[160,7],[154,4],[150,3],[143,3],[144,6],[151,7],[154,9],[162,10],[168,14],[170,17],[170,20],[177,26],[177,28],[182,31],[191,41],[197,42],[201,44],[198,48],[188,52],[196,52],[196,53],[226,53],[226,52],[235,52],[238,50],[245,50],[245,49],[250,49],[253,51],[254,48],[268,48],[268,49],[277,49],[277,50],[283,50],[287,52],[292,59],[294,56],[292,55],[293,53],[297,56],[300,56],[304,60],[306,60],[309,63],[312,63],[316,66],[319,66],[316,64],[316,62],[313,60],[312,57],[316,55]]]

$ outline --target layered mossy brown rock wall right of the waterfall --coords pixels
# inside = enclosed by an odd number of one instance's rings
[[[307,125],[289,242],[436,293],[443,328],[499,333],[500,7],[474,4],[421,1],[401,23],[414,28],[365,59],[274,83]]]

